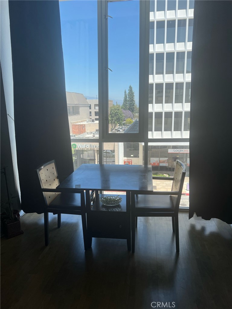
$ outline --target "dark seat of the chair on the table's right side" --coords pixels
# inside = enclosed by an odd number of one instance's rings
[[[138,195],[135,197],[135,212],[172,212],[170,195]]]

